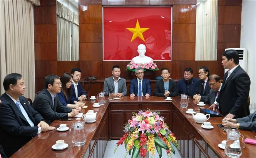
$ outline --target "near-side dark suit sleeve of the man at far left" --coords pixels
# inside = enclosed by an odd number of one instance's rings
[[[5,103],[0,106],[0,127],[13,136],[34,137],[37,135],[38,127],[20,125],[9,103]]]

